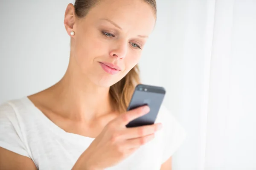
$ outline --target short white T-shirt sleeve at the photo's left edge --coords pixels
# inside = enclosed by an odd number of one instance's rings
[[[7,102],[0,105],[0,147],[29,157],[14,109]],[[30,157],[29,157],[30,158]]]

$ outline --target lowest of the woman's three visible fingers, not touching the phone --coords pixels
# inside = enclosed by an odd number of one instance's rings
[[[138,148],[150,142],[153,139],[154,139],[154,133],[147,136],[140,137],[140,138],[136,138],[136,139],[129,139],[125,142],[125,147],[128,149]]]

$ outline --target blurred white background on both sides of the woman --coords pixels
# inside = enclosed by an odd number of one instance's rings
[[[64,75],[74,0],[0,0],[0,103]],[[157,0],[143,83],[187,132],[173,170],[256,170],[256,0]]]

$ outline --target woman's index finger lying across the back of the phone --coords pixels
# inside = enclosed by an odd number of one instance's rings
[[[142,107],[133,109],[131,111],[122,113],[119,117],[117,117],[115,119],[114,122],[116,122],[117,125],[125,126],[129,122],[131,122],[132,120],[147,114],[149,111],[150,111],[150,109],[149,109],[149,107],[147,105],[146,106],[142,106]]]

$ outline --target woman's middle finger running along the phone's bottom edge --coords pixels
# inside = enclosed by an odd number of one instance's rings
[[[140,127],[130,127],[123,130],[122,139],[134,139],[143,136],[148,136],[155,133],[157,130],[162,128],[162,123],[157,123],[153,125],[144,125]]]

